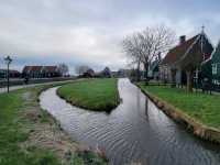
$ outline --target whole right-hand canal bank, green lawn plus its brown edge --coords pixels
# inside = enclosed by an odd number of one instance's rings
[[[195,135],[220,143],[220,96],[188,94],[183,89],[144,86],[141,82],[138,86],[161,110],[184,123]]]

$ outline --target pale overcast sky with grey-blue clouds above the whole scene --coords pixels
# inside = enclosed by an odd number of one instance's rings
[[[127,66],[120,43],[145,26],[165,24],[190,37],[201,25],[220,38],[219,0],[0,0],[0,68],[66,63],[100,70]]]

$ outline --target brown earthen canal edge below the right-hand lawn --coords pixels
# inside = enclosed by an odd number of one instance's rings
[[[186,114],[183,110],[172,106],[170,103],[162,100],[161,98],[154,96],[153,94],[143,90],[139,85],[136,85],[142,92],[144,92],[162,111],[164,111],[168,117],[173,118],[176,122],[184,124],[190,132],[193,132],[198,138],[202,140],[208,140],[220,144],[220,130],[207,127],[194,118]]]

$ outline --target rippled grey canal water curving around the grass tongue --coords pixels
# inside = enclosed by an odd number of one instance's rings
[[[175,123],[129,79],[119,79],[121,105],[110,114],[82,110],[56,96],[40,96],[73,140],[105,151],[110,164],[219,165],[220,146],[201,141]]]

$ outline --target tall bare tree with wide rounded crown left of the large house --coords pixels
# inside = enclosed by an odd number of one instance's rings
[[[133,63],[144,66],[147,82],[148,66],[161,53],[168,51],[173,45],[175,33],[164,25],[146,28],[134,33],[123,41],[123,50]]]

